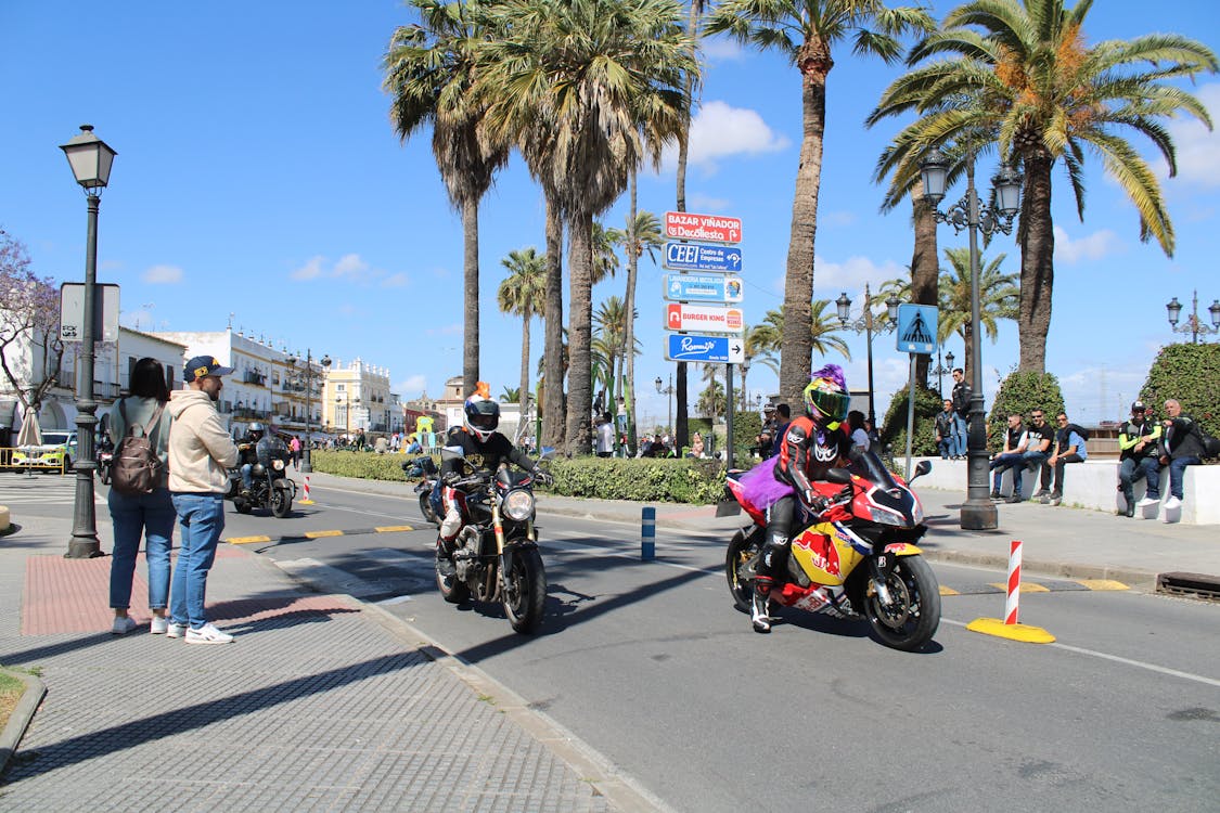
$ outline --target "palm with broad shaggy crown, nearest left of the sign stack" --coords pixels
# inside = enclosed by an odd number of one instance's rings
[[[672,0],[504,0],[505,39],[489,43],[492,116],[510,133],[547,123],[542,171],[569,225],[569,447],[588,446],[592,408],[593,219],[645,157],[660,161],[697,69]],[[642,134],[640,124],[649,127]],[[544,184],[545,185],[545,184]]]

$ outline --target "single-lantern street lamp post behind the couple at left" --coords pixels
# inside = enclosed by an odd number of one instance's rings
[[[98,291],[98,207],[101,190],[110,183],[110,168],[117,155],[93,134],[92,124],[82,124],[81,134],[60,145],[72,167],[72,174],[84,188],[89,210],[88,239],[84,260],[84,325],[81,336],[81,378],[77,388],[77,447],[76,497],[72,509],[72,539],[65,558],[88,559],[101,556],[98,541],[98,516],[94,511],[93,473],[98,468],[93,455],[93,433],[98,425],[98,402],[94,401],[94,297]]]

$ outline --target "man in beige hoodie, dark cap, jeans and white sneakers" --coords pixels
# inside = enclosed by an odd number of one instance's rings
[[[237,445],[224,430],[216,401],[221,375],[233,372],[211,356],[187,362],[187,388],[170,394],[170,496],[178,514],[182,547],[170,588],[170,637],[187,644],[229,644],[233,636],[209,623],[204,612],[207,572],[224,530],[228,469],[237,466]]]

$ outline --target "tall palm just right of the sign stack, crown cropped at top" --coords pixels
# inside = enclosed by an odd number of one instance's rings
[[[870,28],[871,26],[871,28]],[[906,30],[930,30],[921,9],[887,7],[881,0],[725,0],[706,29],[728,33],[742,43],[786,55],[802,74],[803,138],[792,204],[792,232],[784,283],[784,352],[780,357],[780,390],[795,402],[809,383],[813,352],[810,301],[814,297],[814,235],[826,129],[826,79],[832,48],[852,38],[854,51],[893,62]]]

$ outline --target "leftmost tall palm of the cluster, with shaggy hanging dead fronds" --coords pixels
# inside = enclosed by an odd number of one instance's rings
[[[478,204],[509,145],[483,127],[486,105],[471,93],[483,28],[465,0],[409,0],[422,24],[400,26],[382,60],[382,89],[392,95],[390,121],[404,143],[432,126],[432,154],[449,202],[461,211],[464,247],[462,392],[478,380]]]

